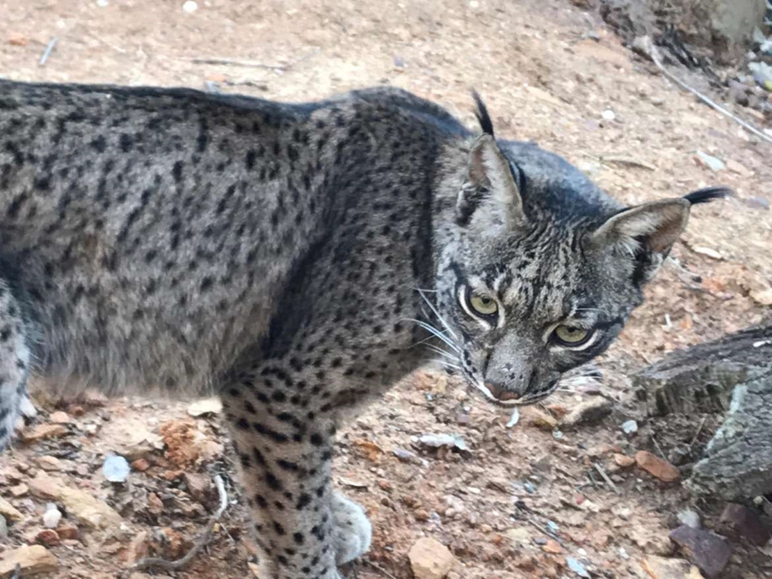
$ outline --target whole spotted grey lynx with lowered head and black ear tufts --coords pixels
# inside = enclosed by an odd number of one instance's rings
[[[341,411],[437,350],[496,404],[540,400],[725,192],[625,208],[478,116],[388,88],[289,105],[0,82],[0,447],[30,372],[63,394],[214,391],[261,577],[340,577],[371,540],[330,488]]]

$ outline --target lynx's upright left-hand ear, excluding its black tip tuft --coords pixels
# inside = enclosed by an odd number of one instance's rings
[[[514,229],[525,221],[510,162],[489,134],[469,151],[466,182],[455,205],[456,222],[482,231]]]

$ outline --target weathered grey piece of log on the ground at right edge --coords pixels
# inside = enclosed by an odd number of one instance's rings
[[[772,494],[772,320],[669,354],[633,378],[649,415],[720,414],[685,484],[726,500]]]

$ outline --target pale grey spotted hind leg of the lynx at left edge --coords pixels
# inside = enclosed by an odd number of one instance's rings
[[[0,451],[13,434],[28,372],[24,320],[8,283],[0,279]]]

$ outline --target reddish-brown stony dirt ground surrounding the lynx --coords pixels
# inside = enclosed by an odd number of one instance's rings
[[[212,58],[268,66],[197,60]],[[680,482],[662,482],[626,458],[648,450],[687,476],[715,419],[706,417],[698,432],[699,417],[647,418],[629,376],[669,350],[770,313],[772,146],[664,80],[594,16],[564,0],[212,0],[194,12],[182,0],[0,2],[0,72],[15,80],[218,86],[288,101],[392,84],[469,124],[474,86],[500,136],[563,154],[628,203],[732,186],[735,199],[693,212],[648,303],[598,362],[600,385],[567,384],[506,428],[507,415],[458,381],[418,373],[347,425],[334,476],[374,523],[368,560],[348,571],[360,579],[411,577],[408,551],[424,536],[455,555],[451,579],[583,572],[651,579],[651,557],[683,556],[668,539],[676,513],[691,508],[718,528],[723,505],[692,499]],[[725,168],[706,167],[698,149]],[[572,430],[560,422],[577,404],[604,400],[613,411],[601,422]],[[220,474],[230,504],[212,542],[185,571],[153,576],[252,577],[255,551],[225,429],[216,407],[193,417],[201,408],[189,402],[37,396],[39,414],[21,432],[27,441],[0,459],[0,495],[21,514],[0,552],[43,543],[58,564],[47,577],[128,577],[143,554],[185,553],[217,509],[209,481]],[[628,419],[638,421],[636,435],[621,431]],[[438,433],[460,435],[469,451],[418,442]],[[105,479],[110,453],[130,460],[126,482]],[[58,482],[51,487],[46,476]],[[72,496],[62,498],[66,487],[103,499],[118,516],[81,512]],[[56,537],[41,533],[49,502],[63,513]],[[731,545],[722,577],[772,577],[769,544]]]

